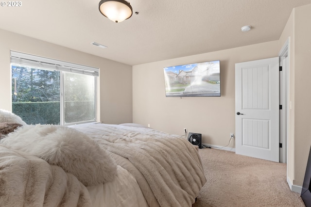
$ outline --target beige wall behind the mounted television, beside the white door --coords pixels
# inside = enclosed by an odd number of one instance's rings
[[[235,132],[235,64],[277,57],[278,41],[133,66],[133,122],[225,146]],[[163,67],[220,60],[221,97],[165,97]],[[235,147],[231,142],[228,147]]]

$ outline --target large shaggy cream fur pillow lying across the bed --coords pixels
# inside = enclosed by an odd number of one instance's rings
[[[112,181],[117,165],[95,140],[59,125],[26,125],[8,134],[0,143],[60,166],[85,186]]]

